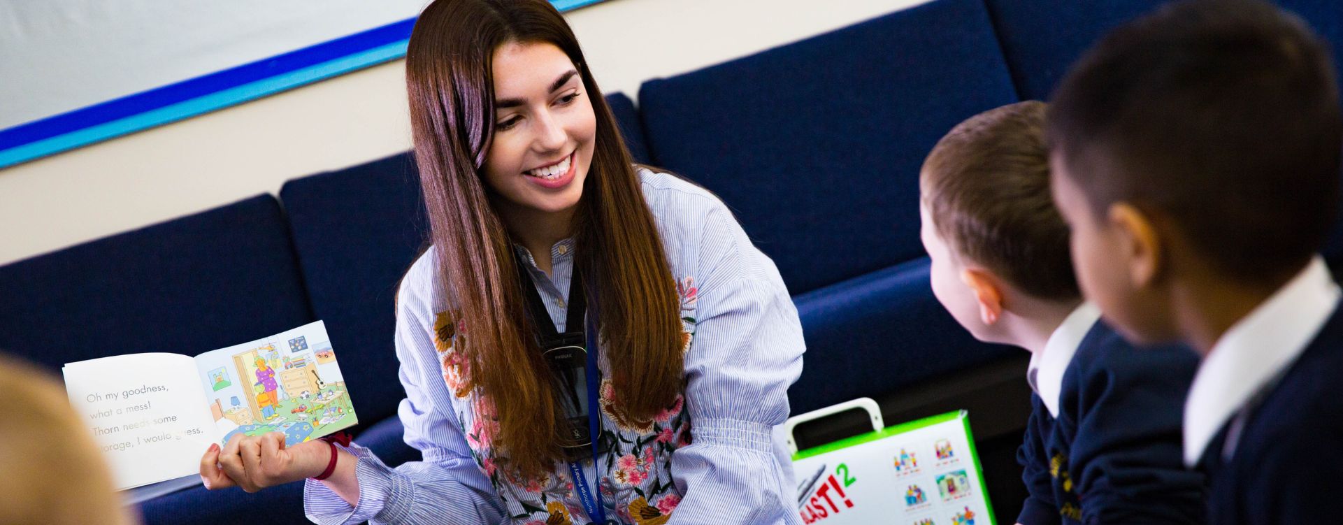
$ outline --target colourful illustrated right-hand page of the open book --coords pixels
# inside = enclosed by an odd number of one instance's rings
[[[205,352],[196,373],[220,443],[283,432],[294,446],[359,422],[321,321]]]

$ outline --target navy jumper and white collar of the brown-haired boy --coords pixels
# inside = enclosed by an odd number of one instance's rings
[[[1084,303],[1031,356],[1031,416],[1017,452],[1017,521],[1202,524],[1206,483],[1180,462],[1180,411],[1198,356],[1133,348]]]

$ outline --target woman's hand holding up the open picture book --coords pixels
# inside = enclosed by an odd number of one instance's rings
[[[239,486],[248,493],[320,475],[330,462],[330,444],[310,440],[285,447],[282,432],[259,436],[235,435],[224,444],[211,444],[200,458],[205,489]]]

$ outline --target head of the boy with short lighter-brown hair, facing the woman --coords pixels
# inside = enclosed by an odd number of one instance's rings
[[[1080,298],[1044,124],[1035,101],[980,113],[937,141],[920,173],[933,294],[983,341],[1017,342],[998,326],[1005,306]]]

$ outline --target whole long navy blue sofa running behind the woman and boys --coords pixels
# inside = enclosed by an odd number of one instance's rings
[[[956,122],[1048,98],[1097,36],[1158,4],[935,0],[649,81],[638,107],[622,94],[608,101],[639,162],[720,195],[778,263],[808,349],[794,414],[857,396],[878,399],[892,423],[970,408],[997,514],[1010,520],[1022,490],[1011,457],[1029,411],[1025,352],[974,341],[933,298],[919,168]],[[1343,50],[1343,7],[1284,4]],[[0,349],[58,371],[107,354],[200,353],[324,320],[363,422],[356,439],[399,465],[419,452],[396,419],[392,301],[426,234],[408,153],[295,179],[278,200],[0,267]],[[1343,259],[1343,230],[1326,252]],[[306,522],[301,494],[299,483],[196,487],[141,512],[150,524]]]

